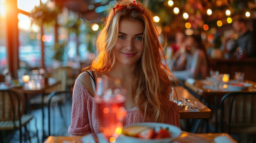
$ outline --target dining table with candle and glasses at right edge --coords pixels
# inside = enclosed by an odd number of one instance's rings
[[[230,83],[236,83],[236,80],[231,79],[229,80]],[[239,82],[237,82],[239,83]],[[214,97],[214,120],[215,120],[215,132],[218,132],[218,104],[220,103],[220,98],[226,95],[230,92],[256,92],[256,82],[250,81],[250,80],[244,80],[242,83],[247,83],[249,85],[248,88],[225,88],[225,84],[223,85],[223,88],[213,88],[212,81],[209,81],[207,79],[196,79],[194,82],[190,82],[189,80],[186,80],[184,82],[184,85],[187,89],[191,90],[191,92],[195,93],[199,96],[199,99],[206,98],[210,99],[210,97]]]

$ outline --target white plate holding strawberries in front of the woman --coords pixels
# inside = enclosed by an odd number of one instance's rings
[[[125,127],[138,126],[138,125],[145,125],[145,126],[148,126],[149,128],[154,128],[155,131],[158,131],[160,128],[164,128],[164,129],[169,128],[171,137],[164,138],[164,139],[145,140],[145,139],[139,139],[136,137],[131,137],[131,136],[126,136],[124,134],[120,134],[120,136],[117,138],[117,142],[118,143],[170,143],[173,139],[180,136],[180,134],[182,132],[180,130],[180,128],[178,128],[174,125],[165,124],[165,123],[137,123],[137,124],[127,125]]]

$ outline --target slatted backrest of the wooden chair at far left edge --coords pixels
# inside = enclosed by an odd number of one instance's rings
[[[25,98],[12,90],[0,90],[0,121],[19,120],[25,111]]]

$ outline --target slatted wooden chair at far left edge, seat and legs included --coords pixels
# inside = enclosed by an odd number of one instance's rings
[[[34,116],[31,114],[24,114],[24,111],[25,98],[23,95],[12,90],[0,90],[0,130],[19,130],[20,143],[22,143],[22,127],[24,127],[25,132],[29,137],[29,142],[31,143],[30,135],[27,130],[27,123],[29,123]],[[37,128],[36,136],[39,143]]]

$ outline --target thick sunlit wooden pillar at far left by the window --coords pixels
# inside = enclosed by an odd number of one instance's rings
[[[14,78],[17,78],[19,69],[19,29],[17,0],[6,0],[7,11],[7,64]]]

